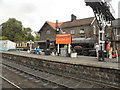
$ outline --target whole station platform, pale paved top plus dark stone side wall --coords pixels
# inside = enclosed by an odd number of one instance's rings
[[[2,53],[4,59],[36,67],[47,72],[120,88],[120,62],[116,58],[105,58],[105,61],[101,62],[96,57],[82,55],[77,56],[77,58],[70,58],[46,56],[43,53],[41,55],[28,54],[22,51],[0,53]]]

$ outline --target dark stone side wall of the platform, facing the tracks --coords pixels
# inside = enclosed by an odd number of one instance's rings
[[[7,53],[3,53],[2,57],[9,60],[15,60],[17,62],[21,62],[30,66],[35,66],[40,69],[49,70],[51,72],[65,76],[97,81],[102,84],[109,84],[117,87],[120,85],[120,70],[117,69],[69,64]]]

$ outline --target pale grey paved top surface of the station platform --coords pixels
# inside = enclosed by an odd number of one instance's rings
[[[20,56],[33,57],[33,58],[56,61],[56,62],[80,64],[80,65],[104,67],[104,68],[120,70],[120,67],[119,67],[120,62],[118,63],[116,58],[114,59],[105,58],[105,62],[101,62],[101,61],[98,61],[95,57],[82,56],[82,55],[77,56],[77,58],[70,58],[70,57],[61,57],[61,56],[52,56],[52,55],[46,56],[43,53],[41,55],[28,54],[27,52],[23,52],[23,51],[12,51],[12,52],[9,51],[9,52],[3,52],[3,53],[10,53],[10,54],[15,54],[15,55],[20,55]]]

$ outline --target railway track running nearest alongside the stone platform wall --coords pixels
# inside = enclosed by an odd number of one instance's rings
[[[76,88],[117,88],[117,87],[111,87],[109,85],[101,85],[100,83],[97,83],[97,82],[95,82],[94,84],[93,83],[91,84],[91,82],[88,82],[85,80],[83,81],[83,80],[77,80],[73,77],[61,76],[55,73],[29,67],[27,65],[23,66],[20,63],[19,64],[13,63],[8,60],[4,60],[2,64],[4,64],[5,66],[9,68],[17,70],[18,72],[28,74],[30,76],[39,78],[44,81],[48,81],[62,88],[72,88],[72,89],[76,89]],[[37,80],[38,82],[39,82],[39,79]]]

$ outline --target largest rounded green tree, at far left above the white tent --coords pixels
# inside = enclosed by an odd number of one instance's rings
[[[21,37],[24,38],[25,36],[22,32],[22,28],[23,26],[21,21],[18,21],[15,18],[10,18],[7,22],[2,24],[2,35],[11,41],[22,40]]]

